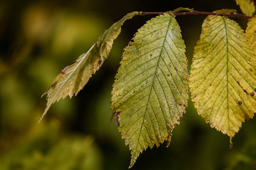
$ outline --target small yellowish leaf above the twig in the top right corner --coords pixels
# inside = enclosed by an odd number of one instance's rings
[[[236,0],[238,4],[246,15],[252,16],[255,12],[255,3],[253,0]]]

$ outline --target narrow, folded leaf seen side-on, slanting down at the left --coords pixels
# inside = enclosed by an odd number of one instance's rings
[[[121,26],[126,20],[131,19],[135,15],[141,15],[141,12],[134,11],[125,15],[121,20],[106,30],[88,52],[81,55],[73,64],[65,67],[58,74],[52,82],[51,87],[43,94],[43,96],[47,94],[47,105],[39,122],[54,102],[66,96],[70,96],[71,98],[83,89],[84,85],[92,77],[92,74],[95,74],[104,60],[107,59],[113,41],[120,34]]]

